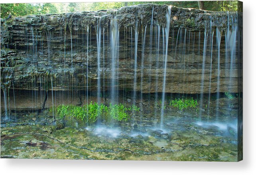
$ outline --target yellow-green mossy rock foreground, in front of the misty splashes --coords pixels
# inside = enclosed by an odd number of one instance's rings
[[[175,140],[111,138],[69,127],[49,134],[35,125],[6,127],[1,134],[1,158],[236,161],[229,138],[197,133],[183,132]]]

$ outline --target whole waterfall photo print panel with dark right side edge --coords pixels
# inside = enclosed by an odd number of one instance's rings
[[[1,158],[242,160],[242,2],[149,3],[1,4]]]

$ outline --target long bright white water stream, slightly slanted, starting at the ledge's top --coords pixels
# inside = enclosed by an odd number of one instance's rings
[[[167,67],[167,58],[168,58],[170,17],[171,17],[171,7],[168,6],[168,11],[166,13],[166,26],[165,26],[165,61],[164,61],[163,92],[162,92],[162,104],[161,104],[161,121],[160,121],[161,128],[163,127],[163,111],[165,106],[165,83],[166,83],[166,67]]]

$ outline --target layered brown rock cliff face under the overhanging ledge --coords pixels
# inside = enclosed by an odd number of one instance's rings
[[[101,91],[161,92],[167,10],[146,4],[2,19],[1,87],[96,91],[100,82]],[[236,13],[171,7],[165,92],[237,92],[237,21]]]

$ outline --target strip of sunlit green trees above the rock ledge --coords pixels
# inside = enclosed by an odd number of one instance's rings
[[[167,4],[183,8],[199,8],[197,1],[164,1],[164,2],[71,2],[71,3],[14,3],[0,4],[1,18],[8,15],[23,16],[45,13],[67,13],[89,10],[116,9],[136,4]],[[213,11],[236,11],[239,8],[237,1],[202,1],[200,8]]]

